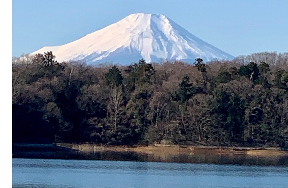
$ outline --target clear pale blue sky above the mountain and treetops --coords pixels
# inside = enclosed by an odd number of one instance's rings
[[[13,56],[72,42],[131,13],[161,13],[233,56],[288,51],[287,0],[13,0]]]

